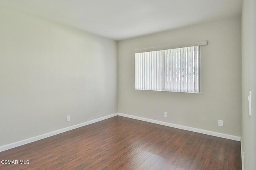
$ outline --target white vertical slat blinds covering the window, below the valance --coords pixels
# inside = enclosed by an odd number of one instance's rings
[[[135,89],[200,93],[200,46],[135,53]]]

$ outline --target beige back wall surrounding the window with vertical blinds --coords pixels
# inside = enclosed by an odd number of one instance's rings
[[[135,49],[202,40],[201,94],[134,90]],[[241,136],[240,16],[119,41],[118,112]]]

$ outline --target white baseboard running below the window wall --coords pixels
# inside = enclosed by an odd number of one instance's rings
[[[212,135],[212,136],[216,136],[216,137],[231,139],[231,140],[234,140],[234,141],[240,141],[241,140],[241,137],[228,135],[228,134],[224,134],[224,133],[218,133],[218,132],[207,131],[207,130],[203,130],[203,129],[197,129],[197,128],[194,128],[194,127],[176,125],[176,124],[173,124],[173,123],[167,123],[167,122],[163,122],[163,121],[147,119],[147,118],[144,118],[144,117],[138,117],[138,116],[128,115],[128,114],[124,114],[124,113],[118,113],[118,115],[123,116],[123,117],[132,118],[132,119],[147,121],[147,122],[150,122],[150,123],[156,123],[156,124],[159,124],[159,125],[164,125],[164,126],[174,127],[174,128],[178,128],[178,129],[183,129],[183,130],[187,130],[187,131],[192,131],[192,132],[202,133],[202,134],[206,134],[206,135]]]

